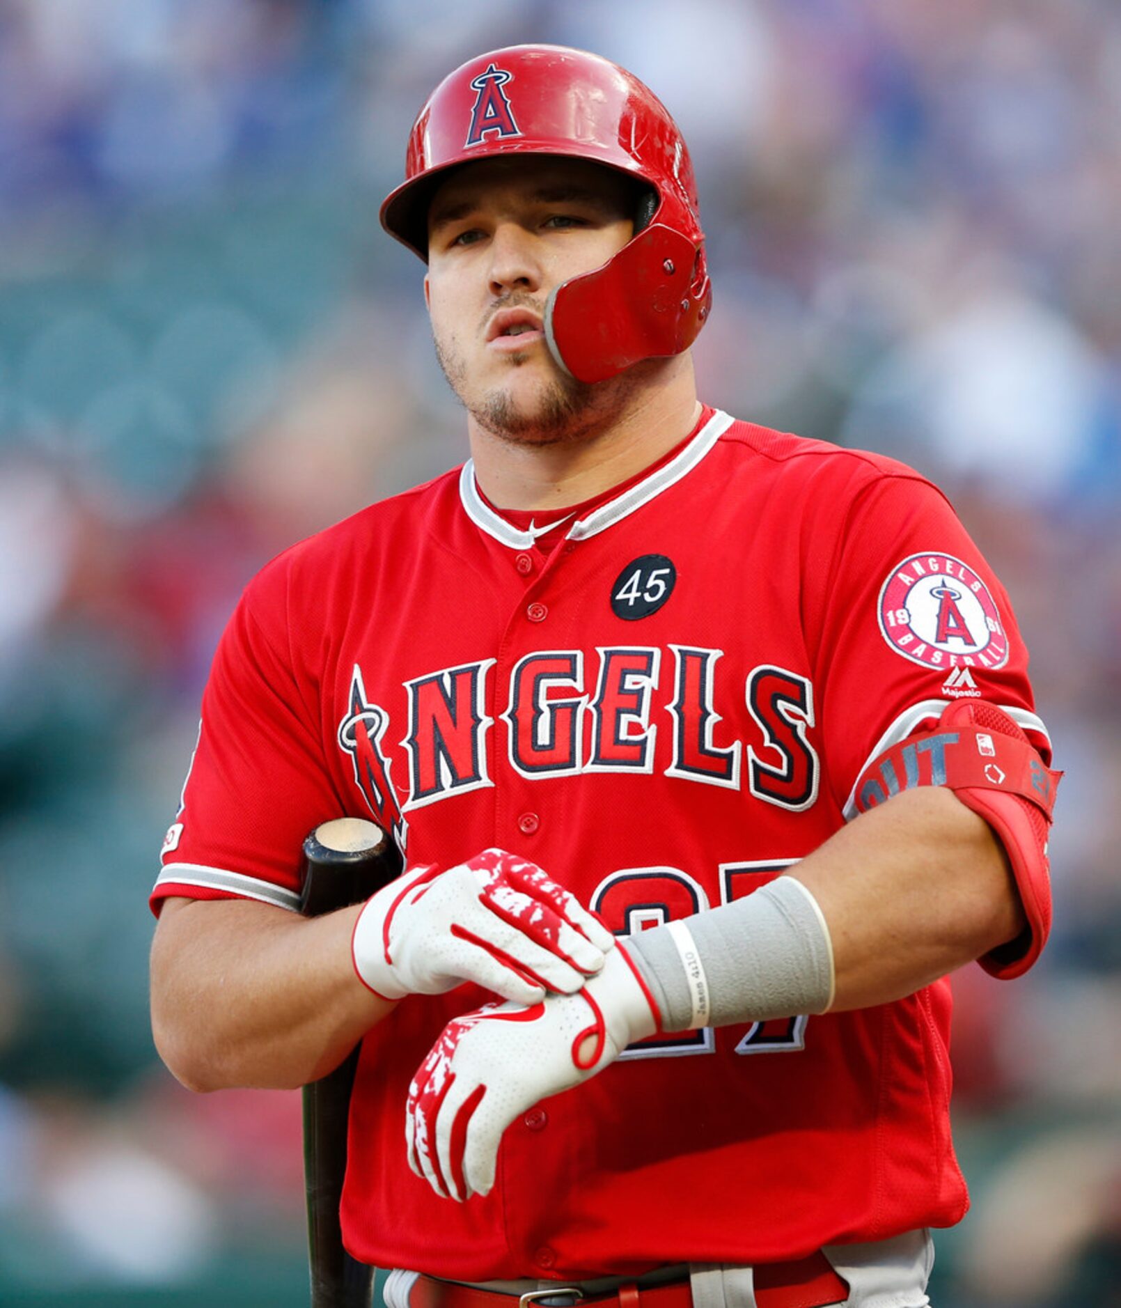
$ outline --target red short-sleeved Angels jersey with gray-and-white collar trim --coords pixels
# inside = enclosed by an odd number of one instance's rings
[[[153,897],[293,908],[306,833],[371,816],[411,863],[498,845],[638,931],[816,849],[863,765],[955,697],[1048,748],[1007,595],[901,464],[705,409],[552,535],[536,548],[467,463],[269,564],[216,655]],[[992,969],[1023,971],[1044,934],[1033,921]],[[646,1041],[515,1122],[485,1199],[440,1199],[405,1162],[405,1093],[443,1024],[488,998],[409,997],[364,1041],[343,1199],[358,1258],[587,1278],[965,1211],[946,981]]]

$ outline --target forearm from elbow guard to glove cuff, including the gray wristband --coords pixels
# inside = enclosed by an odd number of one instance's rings
[[[630,939],[666,1031],[865,1008],[1023,927],[1005,854],[946,790],[906,791],[755,895]]]

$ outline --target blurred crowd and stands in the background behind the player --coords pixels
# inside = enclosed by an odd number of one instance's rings
[[[464,458],[377,207],[518,41],[681,124],[702,396],[931,475],[1016,600],[1056,926],[959,977],[934,1303],[1121,1304],[1113,0],[0,0],[0,1301],[306,1303],[298,1096],[164,1071],[147,895],[247,578]]]

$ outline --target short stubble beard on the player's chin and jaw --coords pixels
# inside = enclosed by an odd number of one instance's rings
[[[555,375],[542,383],[534,402],[519,404],[502,387],[472,395],[463,358],[438,339],[436,357],[447,385],[471,417],[484,432],[510,445],[560,445],[586,438],[611,421],[623,405],[623,392],[630,388],[623,378],[595,385],[578,382],[551,361]],[[509,366],[522,368],[528,361],[526,351],[511,354]]]

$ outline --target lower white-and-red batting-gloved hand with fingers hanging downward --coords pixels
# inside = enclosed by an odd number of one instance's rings
[[[487,1194],[510,1122],[594,1076],[658,1025],[623,944],[578,994],[549,995],[528,1008],[488,1005],[455,1018],[408,1090],[409,1167],[440,1196]]]

